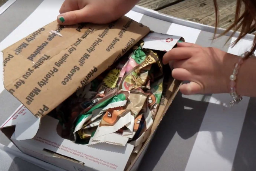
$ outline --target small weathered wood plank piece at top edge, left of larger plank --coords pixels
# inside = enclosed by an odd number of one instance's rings
[[[140,0],[138,5],[151,10],[160,10],[180,1],[184,0]]]

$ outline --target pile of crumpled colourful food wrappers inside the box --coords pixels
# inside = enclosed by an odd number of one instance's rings
[[[78,144],[134,145],[147,140],[163,92],[163,52],[137,43],[104,73],[76,91],[50,116],[61,136]]]

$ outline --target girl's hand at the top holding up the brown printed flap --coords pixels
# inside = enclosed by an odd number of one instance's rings
[[[60,8],[58,23],[105,24],[126,14],[139,0],[65,0]]]

